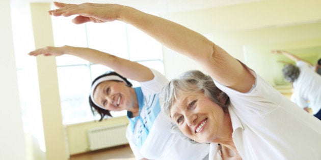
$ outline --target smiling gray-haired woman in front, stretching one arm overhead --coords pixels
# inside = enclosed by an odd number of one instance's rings
[[[173,129],[211,143],[210,159],[321,159],[321,121],[204,36],[128,6],[55,4],[50,15],[76,15],[75,24],[119,20],[202,65],[209,76],[185,73],[160,101]]]

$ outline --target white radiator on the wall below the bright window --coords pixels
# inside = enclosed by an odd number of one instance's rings
[[[89,149],[97,150],[127,144],[127,123],[95,127],[88,130]]]

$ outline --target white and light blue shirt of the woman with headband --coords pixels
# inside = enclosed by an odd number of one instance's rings
[[[140,116],[129,118],[126,137],[137,159],[203,159],[209,144],[193,144],[171,132],[171,123],[161,111],[158,93],[168,80],[155,70],[155,78],[135,88]]]

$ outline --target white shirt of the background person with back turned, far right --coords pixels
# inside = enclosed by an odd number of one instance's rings
[[[313,114],[321,109],[321,76],[304,61],[298,61],[300,75],[293,82],[293,102],[301,108],[310,107]],[[308,104],[308,101],[310,104]]]

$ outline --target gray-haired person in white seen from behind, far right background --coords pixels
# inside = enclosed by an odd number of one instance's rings
[[[282,69],[284,79],[292,83],[293,93],[291,100],[305,111],[310,112],[321,120],[321,76],[300,57],[284,50],[272,51],[282,54],[296,62],[296,65],[287,64]]]

